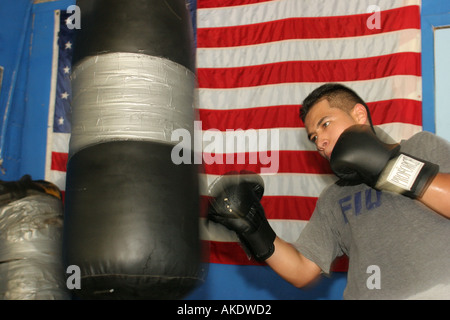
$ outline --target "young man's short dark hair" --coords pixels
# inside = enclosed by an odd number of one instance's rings
[[[366,108],[370,126],[373,128],[370,111],[364,100],[355,91],[339,83],[326,83],[321,85],[303,100],[300,108],[300,118],[303,123],[311,108],[323,99],[328,100],[332,108],[339,108],[347,113],[350,113],[355,104],[362,104]]]

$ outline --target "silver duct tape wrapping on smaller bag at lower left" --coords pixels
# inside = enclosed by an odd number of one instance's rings
[[[29,196],[0,208],[0,299],[66,300],[62,203]]]

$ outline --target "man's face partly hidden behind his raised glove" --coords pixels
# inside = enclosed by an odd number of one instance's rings
[[[332,108],[326,99],[316,103],[305,118],[309,140],[316,145],[320,155],[328,161],[341,133],[358,123],[353,112],[348,114],[339,108]]]

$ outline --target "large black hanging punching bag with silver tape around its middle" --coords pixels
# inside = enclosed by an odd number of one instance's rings
[[[63,256],[81,299],[179,299],[205,276],[194,164],[193,34],[184,0],[79,0]],[[193,150],[188,150],[193,153]],[[73,274],[75,276],[75,274]],[[71,276],[72,277],[72,276]]]

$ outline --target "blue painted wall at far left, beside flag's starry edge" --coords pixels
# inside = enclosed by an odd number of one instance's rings
[[[44,178],[53,48],[53,12],[74,0],[0,1],[2,180]]]

